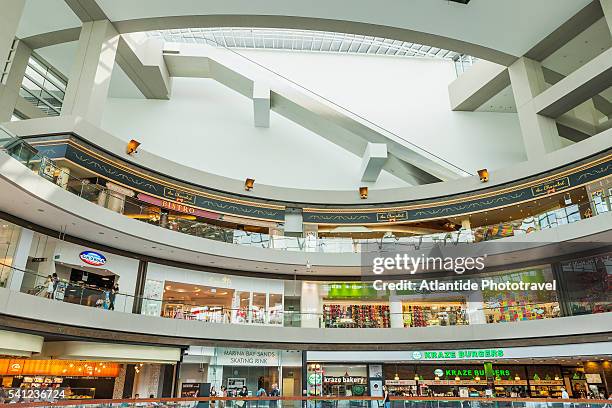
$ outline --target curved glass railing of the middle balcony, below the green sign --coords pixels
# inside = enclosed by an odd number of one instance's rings
[[[0,263],[0,287],[7,286],[12,275],[23,275],[21,292],[48,298],[49,301],[66,302],[81,306],[158,316],[169,319],[193,320],[205,323],[238,325],[273,325],[284,327],[314,327],[326,329],[342,328],[411,328],[430,326],[464,326],[496,324],[528,320],[561,318],[564,316],[560,302],[555,298],[546,301],[530,301],[517,298],[506,304],[482,307],[433,308],[432,310],[391,312],[390,300],[381,298],[377,304],[383,307],[364,321],[355,312],[343,311],[332,314],[324,308],[323,313],[284,310],[279,307],[228,307],[221,304],[202,305],[194,301],[179,299],[153,299],[129,293],[100,289],[83,282],[65,279],[52,280],[52,276],[35,271],[17,269]],[[432,304],[439,304],[435,299]],[[333,301],[330,301],[333,304]],[[359,299],[354,300],[360,304]],[[426,303],[426,302],[422,302]],[[169,307],[166,307],[169,306]],[[612,299],[607,295],[566,304],[570,314],[593,314],[612,312]]]

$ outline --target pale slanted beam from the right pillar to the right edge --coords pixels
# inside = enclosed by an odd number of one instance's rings
[[[536,95],[536,113],[557,118],[612,84],[612,48]]]

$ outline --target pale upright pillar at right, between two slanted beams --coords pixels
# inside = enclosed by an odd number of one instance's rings
[[[542,65],[520,58],[508,68],[516,102],[523,144],[529,160],[563,147],[555,119],[537,113],[533,99],[546,89]]]

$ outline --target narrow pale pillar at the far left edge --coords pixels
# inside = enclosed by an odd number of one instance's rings
[[[24,42],[16,40],[15,46],[10,53],[10,57],[5,65],[5,75],[0,85],[0,122],[11,120],[17,100],[19,90],[23,82],[23,76],[28,66],[28,60],[32,55],[30,47]]]

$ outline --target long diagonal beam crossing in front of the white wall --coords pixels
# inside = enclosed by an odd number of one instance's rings
[[[231,51],[200,44],[167,44],[164,58],[171,76],[212,78],[248,98],[253,98],[255,82],[269,84],[271,110],[359,157],[364,156],[368,142],[386,144],[388,160],[383,168],[412,185],[467,175],[461,169],[407,144],[397,135],[306,89],[300,89]]]

